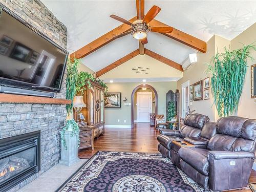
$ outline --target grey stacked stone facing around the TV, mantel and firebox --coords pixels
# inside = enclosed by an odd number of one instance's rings
[[[67,29],[37,0],[0,0],[28,23],[39,29],[58,45],[66,49]],[[60,93],[55,98],[66,98],[66,81],[63,79]],[[59,130],[66,122],[66,105],[0,103],[0,139],[33,131],[41,131],[41,170],[10,191],[23,187],[60,159]]]

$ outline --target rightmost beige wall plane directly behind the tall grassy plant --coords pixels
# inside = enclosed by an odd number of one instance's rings
[[[238,35],[236,38],[231,40],[231,48],[232,49],[240,49],[243,47],[242,44],[249,45],[256,41],[256,24],[252,25],[248,29],[246,29],[243,33]],[[242,44],[241,44],[242,43]],[[250,66],[256,63],[256,52],[251,50],[251,56],[254,58],[252,61],[248,59],[247,65],[249,66],[247,69],[244,88],[242,92],[242,96],[240,99],[240,104],[238,108],[238,116],[256,119],[256,104],[253,103],[253,99],[250,96]]]

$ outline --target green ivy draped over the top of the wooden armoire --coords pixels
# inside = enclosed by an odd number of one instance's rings
[[[106,83],[104,83],[102,80],[95,78],[93,74],[88,72],[80,72],[78,74],[78,78],[76,81],[76,94],[77,95],[83,95],[84,91],[87,89],[87,87],[91,88],[91,80],[98,82],[100,86],[104,88],[104,91],[108,91],[108,87],[106,86]]]

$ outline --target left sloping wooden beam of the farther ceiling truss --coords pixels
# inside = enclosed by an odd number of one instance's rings
[[[111,71],[112,69],[122,65],[122,63],[132,59],[133,57],[139,55],[139,49],[136,49],[135,51],[133,51],[132,53],[118,59],[117,61],[113,62],[112,64],[110,64],[109,66],[104,67],[103,69],[99,70],[98,72],[96,72],[96,76],[99,77],[109,71]]]

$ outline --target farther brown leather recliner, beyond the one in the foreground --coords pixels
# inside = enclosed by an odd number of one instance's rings
[[[173,140],[183,140],[185,137],[199,137],[205,122],[209,121],[206,115],[194,113],[188,114],[184,119],[181,130],[161,130],[157,136],[158,151],[167,158],[171,158],[171,148]]]

